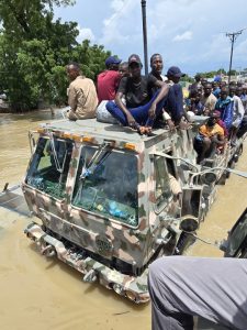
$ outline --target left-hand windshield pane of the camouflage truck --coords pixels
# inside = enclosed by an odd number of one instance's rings
[[[57,199],[65,197],[72,142],[57,138],[40,138],[26,184]]]

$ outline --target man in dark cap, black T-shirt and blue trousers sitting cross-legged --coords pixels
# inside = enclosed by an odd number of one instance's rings
[[[106,109],[123,125],[137,129],[139,133],[149,133],[155,118],[162,112],[164,103],[168,95],[168,86],[155,77],[142,76],[142,62],[138,55],[132,54],[128,57],[128,68],[131,77],[121,79],[116,92],[115,102],[108,102]],[[159,91],[151,97],[149,90],[157,86]],[[122,98],[125,97],[126,105]]]

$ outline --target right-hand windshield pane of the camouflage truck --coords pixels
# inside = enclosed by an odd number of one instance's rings
[[[98,151],[82,147],[72,205],[136,227],[137,157],[109,150],[99,155]]]

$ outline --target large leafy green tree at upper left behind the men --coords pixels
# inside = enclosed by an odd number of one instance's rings
[[[38,100],[67,100],[66,65],[78,62],[92,79],[110,55],[103,46],[78,44],[76,22],[54,21],[54,6],[74,0],[0,0],[0,81],[13,111],[37,107]]]

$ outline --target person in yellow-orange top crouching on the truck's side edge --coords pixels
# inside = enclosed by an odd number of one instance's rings
[[[194,148],[198,153],[198,163],[211,156],[218,146],[225,144],[224,130],[216,123],[215,117],[210,117],[204,125],[199,129],[194,139]]]

